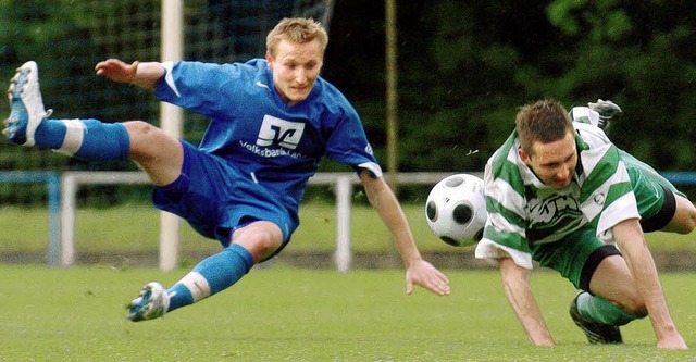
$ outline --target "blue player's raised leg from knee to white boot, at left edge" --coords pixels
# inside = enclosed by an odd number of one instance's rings
[[[85,161],[132,159],[156,185],[172,183],[181,172],[178,140],[145,122],[51,120],[44,108],[35,62],[23,64],[8,89],[11,112],[2,133],[23,146],[40,146]]]

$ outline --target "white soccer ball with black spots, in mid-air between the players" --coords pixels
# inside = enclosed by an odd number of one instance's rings
[[[435,236],[455,247],[481,240],[487,217],[483,179],[470,174],[444,178],[425,202],[427,225]]]

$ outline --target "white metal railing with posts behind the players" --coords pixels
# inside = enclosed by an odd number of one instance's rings
[[[422,184],[434,185],[451,173],[398,173],[395,182],[398,185]],[[390,177],[390,175],[386,175]],[[75,263],[75,215],[77,213],[76,196],[80,185],[110,184],[148,184],[147,175],[141,172],[66,172],[61,176],[61,265]],[[350,269],[352,253],[350,250],[350,209],[352,187],[360,180],[355,173],[318,173],[309,179],[310,185],[334,185],[336,194],[336,250],[334,262],[336,270],[345,273]],[[160,233],[162,235],[162,233]],[[178,237],[177,233],[169,233],[167,238]],[[162,238],[162,236],[161,236]],[[160,240],[160,269],[169,271],[176,265],[178,258],[178,240]]]

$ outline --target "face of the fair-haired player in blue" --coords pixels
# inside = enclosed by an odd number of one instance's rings
[[[304,43],[282,40],[275,57],[266,52],[275,89],[288,105],[303,101],[312,91],[324,64],[323,55],[319,40]]]

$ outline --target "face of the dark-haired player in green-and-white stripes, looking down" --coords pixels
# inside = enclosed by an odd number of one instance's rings
[[[546,185],[560,190],[570,185],[577,165],[575,137],[568,133],[564,138],[549,143],[534,142],[534,153],[527,155],[520,150],[522,161],[534,171]]]

